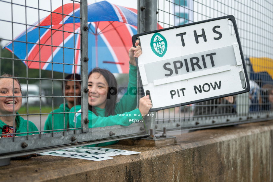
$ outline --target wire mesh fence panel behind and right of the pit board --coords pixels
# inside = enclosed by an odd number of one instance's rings
[[[272,119],[271,2],[158,0],[157,7],[157,21],[163,28],[233,15],[250,79],[250,92],[158,111],[158,131],[164,127],[177,130]],[[231,35],[234,35],[232,25],[229,26]]]

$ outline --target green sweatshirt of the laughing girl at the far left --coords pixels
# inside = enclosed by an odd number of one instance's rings
[[[17,112],[16,114],[19,114],[19,113]],[[15,117],[15,122],[17,124],[16,133],[31,132],[31,133],[28,133],[28,135],[39,134],[39,132],[35,132],[35,131],[38,131],[35,124],[33,122],[31,122],[31,121],[25,120],[21,116],[16,116]],[[2,129],[3,129],[4,125],[5,125],[5,123],[0,120],[0,133],[1,134],[2,134]],[[16,134],[15,136],[24,136],[24,135],[27,135],[27,133]]]

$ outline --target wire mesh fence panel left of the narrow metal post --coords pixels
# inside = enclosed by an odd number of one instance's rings
[[[9,146],[1,147],[0,153],[5,156],[15,151],[68,144],[58,137],[67,135],[70,104],[74,106],[82,97],[83,80],[79,75],[82,18],[77,14],[80,2],[0,3],[3,8],[0,142]],[[64,18],[72,19],[72,23],[63,24]],[[7,87],[3,83],[13,84]],[[52,137],[57,137],[56,143],[45,144]]]

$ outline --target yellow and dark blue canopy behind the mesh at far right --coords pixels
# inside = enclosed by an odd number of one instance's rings
[[[273,84],[273,60],[270,58],[249,58],[250,79],[258,83],[260,87],[264,84]]]

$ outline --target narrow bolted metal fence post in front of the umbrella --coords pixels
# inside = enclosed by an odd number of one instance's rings
[[[88,132],[88,24],[87,0],[81,1],[82,132]]]

